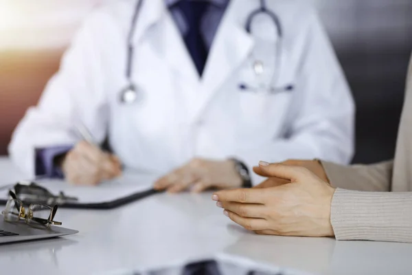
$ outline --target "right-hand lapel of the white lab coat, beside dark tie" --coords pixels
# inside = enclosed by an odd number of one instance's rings
[[[238,20],[240,11],[244,11],[245,6],[247,5],[242,1],[231,1],[222,18],[203,72],[202,91],[199,95],[201,102],[195,113],[195,120],[253,49],[253,38]],[[237,89],[236,85],[238,83],[233,83],[233,89]]]

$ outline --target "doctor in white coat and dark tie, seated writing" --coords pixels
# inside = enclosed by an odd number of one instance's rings
[[[260,159],[350,162],[354,102],[306,1],[209,0],[209,16],[187,0],[114,2],[85,21],[14,131],[10,156],[27,176],[98,184],[123,166],[179,192],[259,184]]]

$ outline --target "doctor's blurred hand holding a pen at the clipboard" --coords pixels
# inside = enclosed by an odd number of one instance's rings
[[[115,155],[81,141],[62,159],[60,167],[67,181],[72,184],[97,185],[121,175],[121,165]]]

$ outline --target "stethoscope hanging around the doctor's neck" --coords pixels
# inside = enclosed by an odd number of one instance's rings
[[[120,91],[120,101],[125,104],[130,104],[137,100],[137,89],[135,85],[133,85],[133,82],[131,79],[131,76],[133,73],[132,62],[133,62],[133,55],[134,55],[134,50],[135,50],[135,47],[133,46],[133,36],[135,34],[137,17],[141,10],[142,3],[143,3],[143,0],[137,1],[135,12],[133,14],[132,22],[130,25],[130,30],[128,32],[127,60],[126,60],[126,80],[128,84],[124,89],[122,89],[122,91]],[[279,69],[280,58],[282,56],[282,44],[281,44],[281,41],[283,38],[282,25],[279,21],[279,17],[277,17],[277,15],[273,13],[271,10],[268,10],[268,8],[266,8],[266,0],[260,0],[260,8],[251,12],[251,14],[249,14],[249,17],[247,17],[247,21],[246,21],[244,28],[249,34],[251,34],[251,26],[252,26],[253,19],[255,19],[255,17],[259,14],[266,14],[269,17],[271,17],[273,24],[276,27],[276,33],[275,33],[277,37],[277,40],[276,40],[277,45],[275,47],[276,48],[276,53],[275,53],[276,72],[274,73],[274,76],[273,76],[273,79],[274,79],[273,83],[277,83],[277,80],[279,80],[279,72],[280,72],[280,69]],[[266,71],[264,62],[260,60],[253,61],[252,70],[253,70],[253,74],[255,78],[261,78]],[[270,94],[275,94],[275,93],[279,93],[282,91],[292,91],[294,89],[292,85],[288,85],[282,88],[276,88],[272,86],[264,87],[262,85],[258,85],[258,87],[254,87],[253,85],[247,85],[247,83],[240,83],[238,85],[238,88],[241,91],[254,91],[254,92],[265,90],[266,92]]]

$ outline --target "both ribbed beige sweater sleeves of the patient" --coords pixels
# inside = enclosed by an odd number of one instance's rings
[[[389,192],[393,162],[322,165],[336,187],[330,221],[337,240],[412,243],[412,192]]]

